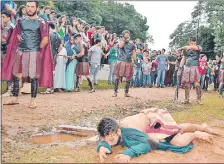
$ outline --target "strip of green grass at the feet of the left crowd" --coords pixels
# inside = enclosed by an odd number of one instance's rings
[[[125,82],[121,83],[119,85],[119,88],[124,88]],[[81,85],[82,89],[89,89],[88,86],[88,82],[87,80],[83,80],[83,83]],[[106,89],[113,89],[114,85],[108,85],[107,84],[107,80],[100,80],[98,81],[98,86],[95,86],[96,89],[102,89],[102,90],[106,90]],[[44,92],[46,90],[45,87],[39,87],[39,92]],[[6,92],[6,82],[2,81],[2,90],[1,90],[1,94],[4,94]]]

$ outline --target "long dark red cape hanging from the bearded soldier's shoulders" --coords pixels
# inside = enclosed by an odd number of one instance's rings
[[[51,45],[49,37],[49,24],[39,18],[41,21],[40,31],[41,38],[48,36],[48,44],[40,50],[41,53],[41,73],[39,79],[40,87],[53,87],[53,66],[52,66],[52,55],[51,55]],[[19,40],[17,35],[20,35],[20,20],[18,20],[13,33],[10,37],[10,41],[6,50],[6,56],[2,65],[2,80],[11,81],[13,74],[13,64],[15,61],[15,54],[18,48]]]

